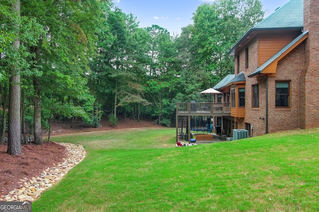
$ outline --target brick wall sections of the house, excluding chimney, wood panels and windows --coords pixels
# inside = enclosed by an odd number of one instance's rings
[[[256,70],[259,61],[260,50],[259,39],[249,43],[250,64],[245,69],[245,60],[240,61],[240,70],[245,75]],[[245,57],[242,50],[240,58]],[[236,64],[236,63],[235,63]],[[268,132],[293,130],[300,128],[300,76],[304,68],[304,43],[300,44],[288,56],[278,63],[276,76],[268,77]],[[244,69],[244,70],[243,70]],[[278,109],[275,106],[276,81],[288,80],[291,82],[291,108]],[[259,108],[252,108],[252,86],[259,84]],[[234,120],[238,122],[238,128],[244,129],[245,123],[253,126],[253,136],[266,133],[266,79],[262,77],[246,78],[245,85],[245,118]],[[233,115],[233,114],[232,114]]]

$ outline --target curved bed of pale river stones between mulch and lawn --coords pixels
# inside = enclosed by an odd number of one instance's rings
[[[51,168],[46,168],[40,177],[21,179],[23,183],[20,188],[13,189],[8,195],[0,196],[0,202],[30,201],[36,200],[44,191],[51,188],[75,165],[85,157],[85,150],[81,145],[72,143],[58,143],[65,146],[67,158],[63,162]]]

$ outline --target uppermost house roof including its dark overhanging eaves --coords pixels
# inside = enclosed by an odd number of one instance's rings
[[[251,28],[228,52],[234,55],[235,49],[246,39],[257,31],[303,29],[304,27],[304,0],[290,0],[283,6],[276,9],[267,18]]]

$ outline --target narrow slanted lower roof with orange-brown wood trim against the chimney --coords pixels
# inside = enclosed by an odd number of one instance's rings
[[[308,31],[302,33],[297,38],[295,38],[292,42],[287,44],[284,48],[282,48],[279,52],[277,52],[273,57],[271,57],[268,61],[266,61],[263,65],[258,67],[254,72],[252,72],[248,77],[256,76],[263,71],[270,67],[271,65],[275,64],[277,67],[277,63],[283,57],[285,57],[288,53],[290,53],[296,46],[298,46],[301,42],[303,42],[308,37]],[[272,73],[272,72],[270,72]]]

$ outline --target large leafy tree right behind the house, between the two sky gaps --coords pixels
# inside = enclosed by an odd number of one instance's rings
[[[237,40],[263,18],[260,0],[219,0],[200,5],[194,16],[192,42],[195,60],[213,76],[233,72],[227,52]]]

